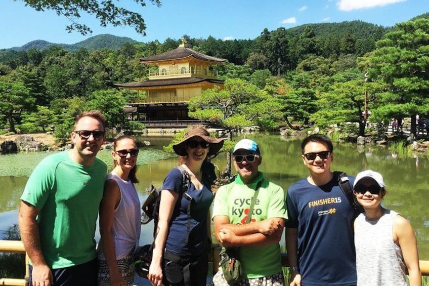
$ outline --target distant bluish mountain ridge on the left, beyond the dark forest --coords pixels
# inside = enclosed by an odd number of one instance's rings
[[[99,50],[104,48],[119,49],[125,43],[137,43],[137,40],[134,40],[128,37],[119,37],[111,34],[101,34],[101,35],[96,35],[96,36],[87,38],[85,40],[82,40],[81,42],[78,42],[72,45],[50,43],[50,42],[47,42],[46,40],[38,39],[38,40],[33,40],[21,47],[11,48],[11,50],[14,50],[14,51],[28,51],[31,49],[45,50],[51,46],[59,46],[68,52],[74,52],[79,49],[87,49],[89,51],[94,51],[94,50]]]

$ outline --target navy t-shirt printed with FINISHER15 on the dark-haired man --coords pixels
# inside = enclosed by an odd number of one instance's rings
[[[350,177],[353,186],[354,177]],[[286,195],[286,227],[298,231],[298,266],[305,286],[356,285],[354,211],[334,177],[323,186],[307,178]]]

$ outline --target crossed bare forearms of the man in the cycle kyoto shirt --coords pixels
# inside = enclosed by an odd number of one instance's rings
[[[284,227],[283,218],[270,218],[248,224],[231,224],[228,216],[213,218],[215,233],[224,247],[267,246],[278,243]]]

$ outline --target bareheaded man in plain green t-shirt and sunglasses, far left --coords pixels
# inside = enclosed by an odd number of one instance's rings
[[[96,155],[105,129],[99,110],[80,113],[73,148],[46,157],[27,181],[18,222],[30,285],[97,284],[94,235],[107,166]]]

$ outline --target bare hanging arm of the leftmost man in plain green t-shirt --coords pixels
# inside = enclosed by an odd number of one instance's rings
[[[22,243],[33,265],[33,284],[48,286],[53,284],[54,278],[41,252],[40,234],[36,221],[36,217],[39,213],[39,208],[21,200],[18,213],[18,224]]]

